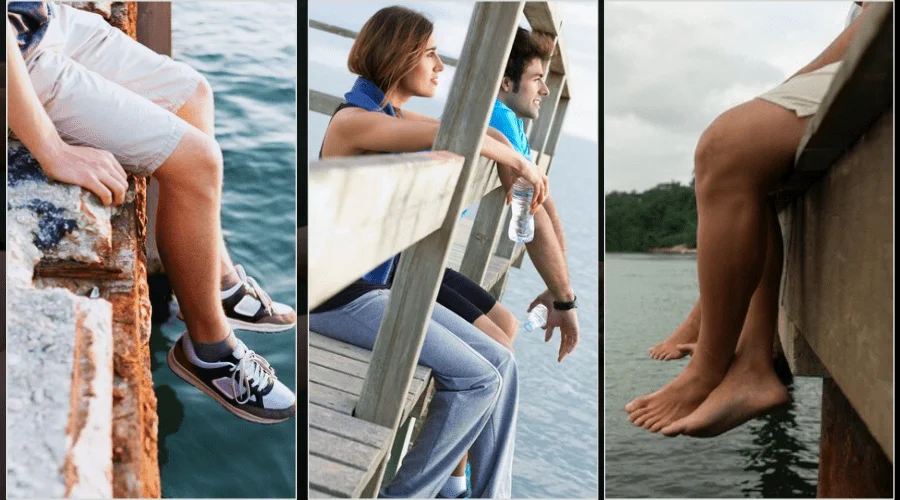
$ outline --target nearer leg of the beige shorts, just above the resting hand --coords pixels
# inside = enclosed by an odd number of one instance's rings
[[[109,151],[126,171],[138,176],[153,173],[190,127],[173,113],[52,51],[32,58],[28,75],[64,141]]]

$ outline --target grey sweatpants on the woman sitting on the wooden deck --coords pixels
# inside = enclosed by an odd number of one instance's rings
[[[310,330],[372,349],[390,291],[369,292],[344,307],[309,316]],[[428,418],[384,498],[434,498],[469,450],[474,498],[511,498],[519,405],[513,354],[435,304],[419,363],[431,368]]]

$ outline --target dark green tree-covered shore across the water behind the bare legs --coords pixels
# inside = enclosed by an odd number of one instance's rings
[[[669,182],[643,193],[613,191],[606,195],[605,211],[607,252],[646,252],[675,245],[697,247],[693,185]]]

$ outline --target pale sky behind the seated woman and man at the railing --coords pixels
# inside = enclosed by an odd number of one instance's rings
[[[338,8],[340,6],[348,8]],[[465,41],[473,2],[321,2],[309,3],[309,18],[359,31],[378,9],[388,5],[404,5],[425,13],[435,25],[438,52],[459,57]],[[572,104],[566,113],[564,133],[599,142],[599,4],[596,2],[556,2],[562,17],[562,32],[569,56]],[[528,27],[524,16],[520,24]],[[332,95],[343,95],[355,79],[347,70],[347,53],[352,40],[318,30],[309,32],[309,85],[311,89]],[[433,99],[412,99],[414,111],[439,116],[446,102],[454,68],[447,67]],[[313,115],[310,113],[310,115]],[[311,116],[310,144],[319,144],[327,117]],[[314,156],[318,151],[310,151]]]

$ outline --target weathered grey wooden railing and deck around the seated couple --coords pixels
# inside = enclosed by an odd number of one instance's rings
[[[476,4],[459,60],[441,56],[457,71],[436,152],[310,163],[310,232],[318,235],[309,242],[310,309],[403,253],[373,351],[309,334],[309,498],[374,497],[393,477],[430,394],[430,370],[417,363],[445,265],[499,298],[510,266],[521,263],[524,247],[502,235],[509,211],[497,170],[478,152],[523,13],[556,39],[545,61],[550,95],[528,124],[547,171],[569,101],[561,22],[548,2]],[[356,37],[316,21],[310,28]],[[310,91],[310,111],[330,115],[340,102]],[[475,220],[459,220],[475,201]]]

